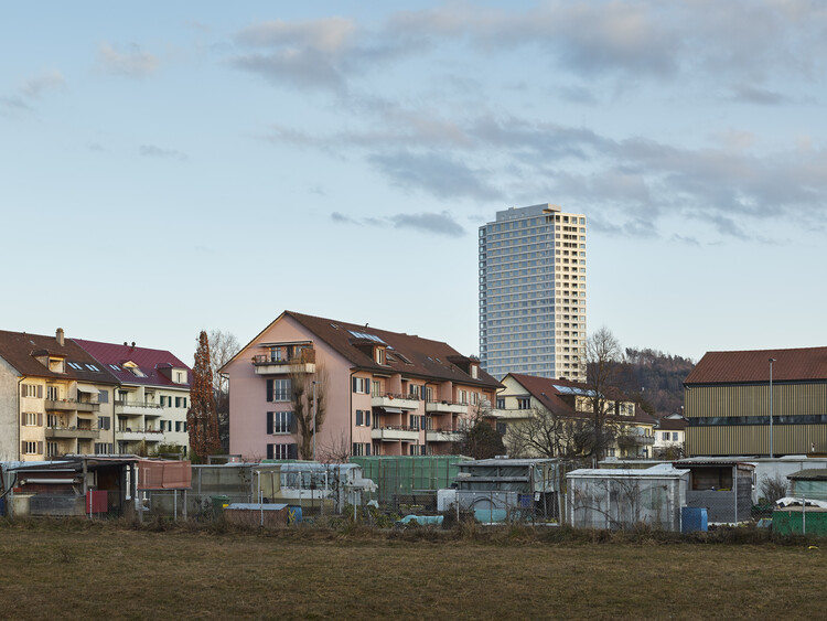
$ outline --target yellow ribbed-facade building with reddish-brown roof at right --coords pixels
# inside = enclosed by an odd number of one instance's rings
[[[827,347],[707,352],[684,411],[688,456],[825,453]]]

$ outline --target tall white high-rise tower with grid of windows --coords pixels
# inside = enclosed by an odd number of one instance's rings
[[[586,215],[540,204],[480,227],[480,362],[586,379]]]

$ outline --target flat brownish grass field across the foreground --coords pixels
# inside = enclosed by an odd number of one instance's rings
[[[820,618],[827,545],[0,525],[0,618]],[[601,543],[598,543],[601,542]]]

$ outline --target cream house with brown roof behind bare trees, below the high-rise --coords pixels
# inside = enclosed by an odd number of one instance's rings
[[[507,374],[492,410],[513,457],[588,454],[592,388],[579,382]],[[652,457],[656,420],[616,388],[605,390],[605,457]]]

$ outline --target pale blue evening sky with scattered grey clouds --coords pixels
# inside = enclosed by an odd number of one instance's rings
[[[10,2],[0,329],[284,309],[477,344],[477,228],[586,213],[589,332],[827,345],[827,6]]]

